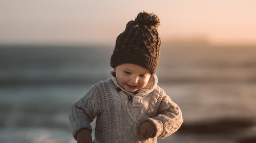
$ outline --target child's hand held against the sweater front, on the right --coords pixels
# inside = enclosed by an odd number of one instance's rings
[[[155,132],[156,130],[154,126],[152,125],[152,123],[148,121],[142,123],[142,125],[140,126],[140,138],[147,139],[147,138],[153,137]]]

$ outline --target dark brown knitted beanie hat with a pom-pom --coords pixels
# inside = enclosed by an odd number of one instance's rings
[[[124,32],[116,39],[111,67],[131,63],[155,73],[161,43],[157,32],[158,25],[158,16],[147,12],[140,12],[135,20],[129,21]]]

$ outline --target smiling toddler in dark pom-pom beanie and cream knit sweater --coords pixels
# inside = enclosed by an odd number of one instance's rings
[[[176,103],[157,85],[159,18],[140,12],[116,39],[110,78],[93,85],[74,103],[70,124],[78,143],[92,142],[90,123],[96,117],[93,142],[157,142],[183,122]]]

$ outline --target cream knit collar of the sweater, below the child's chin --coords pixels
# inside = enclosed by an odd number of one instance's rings
[[[130,92],[127,92],[126,90],[124,90],[118,83],[117,83],[117,80],[116,80],[116,77],[114,76],[114,71],[112,70],[110,72],[110,78],[112,79],[112,81],[115,83],[115,85],[120,88],[122,91],[126,92],[126,93],[129,93],[129,94],[132,94]],[[158,82],[158,79],[157,79],[157,75],[156,74],[152,74],[151,77],[150,77],[150,80],[148,80],[147,82],[147,85],[145,88],[143,89],[140,89],[138,90],[137,94],[136,95],[140,95],[140,96],[145,96],[151,92],[154,91],[154,89],[157,87],[157,82]]]

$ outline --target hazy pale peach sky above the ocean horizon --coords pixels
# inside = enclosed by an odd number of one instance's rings
[[[0,44],[114,44],[141,11],[160,18],[162,41],[256,43],[254,0],[1,0]]]

